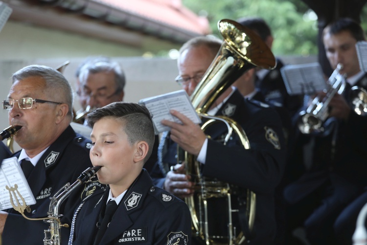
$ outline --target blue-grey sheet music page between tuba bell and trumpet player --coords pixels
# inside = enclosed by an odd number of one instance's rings
[[[287,65],[280,73],[289,95],[312,94],[327,87],[319,63]]]

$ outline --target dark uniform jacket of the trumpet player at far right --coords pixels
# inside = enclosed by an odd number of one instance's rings
[[[367,89],[367,74],[355,86]],[[350,89],[348,84],[343,93],[349,103]],[[315,138],[313,161],[310,170],[292,184],[294,191],[292,195],[287,195],[290,203],[297,202],[316,190],[331,175],[338,176],[340,180],[350,183],[360,191],[367,186],[367,116],[357,115],[351,110],[347,121],[329,118],[325,123],[329,125],[325,127],[327,134],[300,136],[304,139]],[[334,178],[332,181],[337,185]]]

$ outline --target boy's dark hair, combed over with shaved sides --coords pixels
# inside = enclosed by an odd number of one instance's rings
[[[130,145],[138,141],[148,143],[149,151],[144,159],[145,163],[152,154],[155,139],[152,116],[149,110],[143,105],[132,102],[113,102],[89,113],[86,120],[88,125],[93,127],[94,123],[106,117],[121,120],[121,126],[124,127]]]

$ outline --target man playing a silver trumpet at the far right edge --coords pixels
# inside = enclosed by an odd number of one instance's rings
[[[329,103],[328,124],[323,124],[327,133],[308,135],[313,142],[310,169],[285,189],[291,205],[289,224],[291,228],[303,225],[311,244],[351,244],[356,215],[336,219],[367,186],[367,117],[352,110],[349,94],[352,86],[367,88],[355,47],[363,40],[363,29],[350,19],[339,19],[323,30],[326,56],[334,69],[342,65],[339,73],[346,76],[345,89]]]

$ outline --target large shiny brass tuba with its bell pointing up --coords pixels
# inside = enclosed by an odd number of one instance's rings
[[[224,144],[233,135],[237,135],[242,146],[249,149],[247,135],[238,123],[224,116],[209,116],[206,112],[213,102],[247,70],[254,67],[273,69],[276,64],[275,57],[256,33],[234,21],[221,20],[218,22],[218,29],[224,42],[190,99],[199,116],[208,119],[202,125],[204,132],[213,124],[223,123],[228,129]],[[253,227],[256,195],[250,190],[202,176],[200,163],[192,154],[180,147],[178,162],[186,163],[186,174],[191,175],[191,180],[195,183],[194,195],[185,198],[191,213],[193,237],[206,245],[244,243]],[[241,196],[241,202],[233,199],[239,198],[238,196]],[[227,207],[222,211],[226,221],[225,224],[224,222],[220,224],[221,227],[218,227],[220,221],[214,220],[218,213],[218,206],[215,207],[216,201]],[[235,206],[238,203],[243,206]],[[245,213],[246,228],[234,225],[235,221],[238,221],[240,210],[244,211],[241,214]]]

